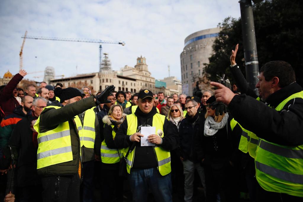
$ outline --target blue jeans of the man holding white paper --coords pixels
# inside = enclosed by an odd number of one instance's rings
[[[171,174],[162,176],[157,168],[131,169],[128,180],[132,189],[133,202],[145,202],[148,189],[157,202],[172,202]]]

